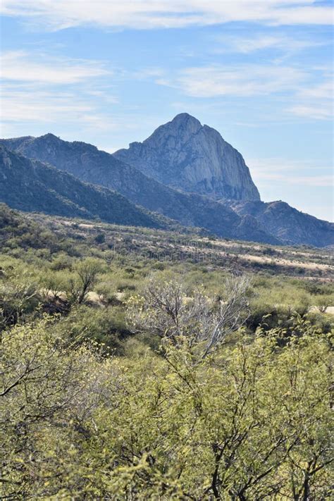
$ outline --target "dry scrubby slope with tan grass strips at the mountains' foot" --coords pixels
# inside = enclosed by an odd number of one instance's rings
[[[180,263],[198,264],[211,273],[228,271],[268,273],[273,276],[297,276],[314,280],[334,279],[334,255],[327,249],[311,249],[280,245],[261,245],[238,240],[223,240],[194,233],[150,228],[129,228],[94,221],[76,223],[68,218],[29,215],[61,239],[73,239],[83,245],[96,242],[104,235],[101,249],[111,249],[117,256],[127,256],[134,264],[148,259],[159,261],[161,267]],[[97,246],[96,243],[94,245]],[[159,268],[158,268],[159,269]]]

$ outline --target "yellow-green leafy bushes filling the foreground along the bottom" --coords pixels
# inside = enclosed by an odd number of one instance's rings
[[[47,319],[6,330],[1,499],[329,500],[330,340],[295,330],[207,357],[180,333],[130,359],[69,347]]]

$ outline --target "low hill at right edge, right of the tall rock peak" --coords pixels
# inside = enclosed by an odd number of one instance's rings
[[[252,216],[268,233],[287,244],[326,247],[334,244],[334,224],[297,211],[286,202],[232,202],[228,206],[242,217]]]

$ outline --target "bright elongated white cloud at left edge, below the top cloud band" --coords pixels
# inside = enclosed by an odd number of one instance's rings
[[[20,82],[73,84],[110,72],[94,61],[51,58],[44,54],[32,57],[25,51],[8,51],[1,56],[1,78]]]

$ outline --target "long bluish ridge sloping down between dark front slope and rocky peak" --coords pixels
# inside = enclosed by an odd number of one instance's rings
[[[116,190],[131,202],[173,218],[183,225],[205,228],[219,237],[282,243],[266,233],[256,221],[252,231],[249,231],[243,218],[230,207],[199,194],[173,190],[92,144],[67,142],[52,134],[0,140],[1,143],[30,159],[48,162],[62,171],[72,173],[87,183]]]

